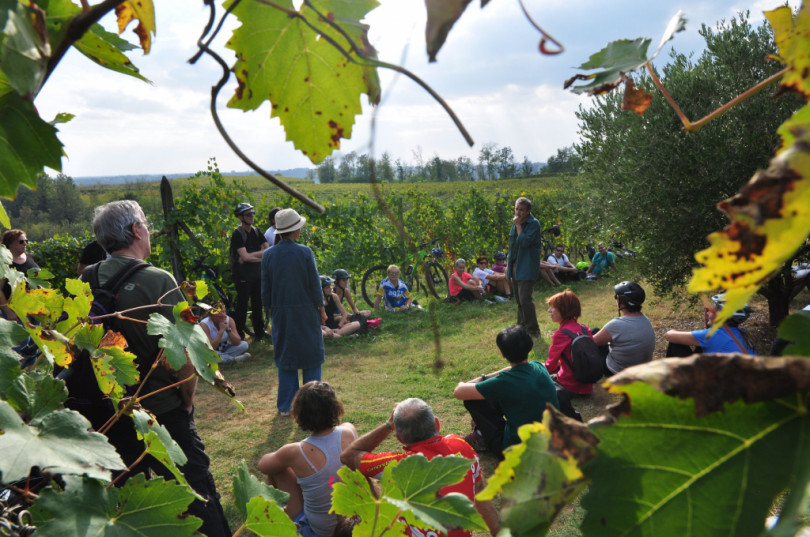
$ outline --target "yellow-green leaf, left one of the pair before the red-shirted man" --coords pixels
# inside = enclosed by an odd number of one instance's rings
[[[390,476],[389,464],[383,471],[383,478]],[[333,486],[332,511],[339,515],[360,516],[360,523],[354,527],[354,537],[372,537],[391,526],[391,535],[402,535],[406,526],[398,519],[399,509],[384,498],[377,498],[363,474],[347,467],[338,470],[340,482]]]

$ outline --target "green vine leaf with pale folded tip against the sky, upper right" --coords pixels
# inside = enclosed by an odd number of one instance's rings
[[[644,67],[648,62],[651,62],[661,52],[663,46],[671,40],[677,32],[686,29],[686,19],[683,14],[678,13],[673,16],[664,35],[661,38],[661,43],[658,49],[652,56],[647,56],[647,49],[652,43],[652,39],[648,37],[639,37],[638,39],[620,39],[608,43],[608,45],[599,52],[592,54],[587,62],[583,63],[577,69],[590,71],[592,69],[602,69],[590,75],[574,75],[565,81],[564,88],[570,87],[576,80],[590,80],[590,83],[571,87],[574,93],[589,93],[591,95],[601,95],[607,93],[619,84],[628,80],[627,73],[635,71]]]

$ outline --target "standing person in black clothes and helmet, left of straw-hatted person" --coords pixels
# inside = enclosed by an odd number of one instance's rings
[[[262,253],[268,248],[264,234],[253,225],[256,211],[250,203],[240,203],[233,211],[239,219],[239,227],[231,234],[231,271],[236,287],[236,307],[233,320],[239,337],[244,339],[247,323],[248,303],[250,322],[253,325],[253,341],[261,341],[264,336],[264,314],[262,311]]]

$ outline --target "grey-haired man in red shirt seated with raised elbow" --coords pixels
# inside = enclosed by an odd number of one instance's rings
[[[372,453],[388,435],[394,431],[404,452]],[[475,501],[475,493],[484,486],[481,476],[481,464],[478,455],[470,445],[460,436],[450,434],[439,435],[439,420],[433,415],[430,405],[421,399],[405,399],[394,406],[391,417],[382,425],[370,431],[346,448],[340,460],[352,470],[359,470],[366,477],[376,477],[391,462],[400,461],[405,457],[421,453],[428,460],[437,455],[460,455],[472,461],[464,480],[455,485],[448,485],[439,490],[445,495],[458,492],[467,496],[475,504],[475,509],[484,519],[492,535],[498,533],[498,513],[492,502]],[[409,527],[411,537],[435,535],[433,531]],[[471,532],[465,530],[450,530],[447,537],[469,537]]]

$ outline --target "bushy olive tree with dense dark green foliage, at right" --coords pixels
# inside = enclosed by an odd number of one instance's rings
[[[752,27],[745,15],[700,33],[703,54],[693,62],[673,53],[661,75],[688,117],[708,114],[780,68],[768,59],[776,49],[767,26]],[[656,91],[647,77],[637,85]],[[725,223],[715,205],[768,165],[779,142],[776,129],[799,101],[763,92],[699,133],[685,132],[660,95],[643,116],[622,111],[621,102],[611,93],[577,114],[582,139],[576,149],[589,193],[580,213],[605,232],[626,233],[644,252],[639,271],[665,293],[686,283],[695,249]]]

